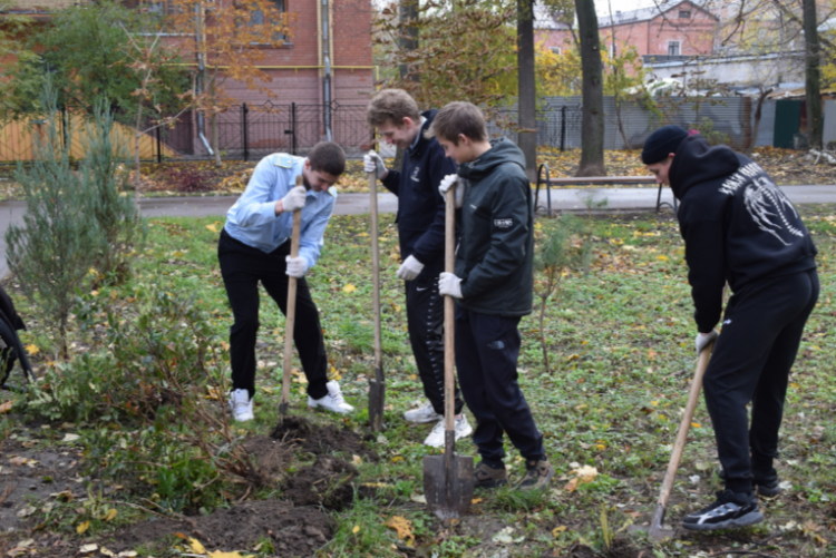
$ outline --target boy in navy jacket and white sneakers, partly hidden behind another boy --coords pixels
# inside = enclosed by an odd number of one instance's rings
[[[364,157],[364,170],[376,173],[398,196],[398,236],[402,264],[398,278],[406,281],[407,326],[418,374],[429,403],[404,413],[409,422],[435,422],[425,444],[444,446],[444,302],[438,294],[438,274],[444,271],[445,204],[439,199],[441,178],[456,172],[432,138],[421,134],[437,110],[421,114],[412,97],[402,89],[383,89],[367,109],[369,125],[387,144],[404,149],[400,172],[387,169],[376,151]],[[461,397],[456,389],[456,440],[473,429],[461,414]]]

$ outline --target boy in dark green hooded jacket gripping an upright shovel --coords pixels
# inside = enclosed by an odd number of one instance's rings
[[[507,139],[488,141],[482,111],[450,102],[429,127],[458,175],[445,177],[444,195],[456,185],[461,237],[456,273],[441,273],[439,291],[456,301],[456,370],[476,418],[474,442],[482,461],[477,487],[507,482],[503,432],[525,459],[518,490],[544,489],[554,476],[543,435],[517,383],[522,316],[533,302],[534,213],[525,156]]]

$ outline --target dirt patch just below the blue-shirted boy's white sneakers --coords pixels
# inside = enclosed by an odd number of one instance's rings
[[[297,443],[314,456],[341,452],[347,456],[359,456],[372,462],[380,461],[380,456],[363,443],[360,434],[349,428],[334,424],[317,427],[299,417],[288,417],[273,428],[270,435],[288,443]]]

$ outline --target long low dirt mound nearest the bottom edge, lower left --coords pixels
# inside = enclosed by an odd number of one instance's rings
[[[207,549],[252,550],[269,537],[280,556],[311,556],[333,536],[328,516],[317,508],[293,508],[284,501],[253,501],[217,509],[188,522],[164,519],[126,527],[108,548],[116,550],[161,542],[176,532],[200,540]]]

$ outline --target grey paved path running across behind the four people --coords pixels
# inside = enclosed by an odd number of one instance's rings
[[[794,204],[836,204],[836,185],[823,186],[781,186]],[[575,189],[552,188],[552,209],[576,211],[585,209],[583,196],[595,193],[606,197],[609,209],[653,209],[657,204],[657,188],[601,188]],[[140,202],[143,215],[146,217],[207,217],[226,214],[237,196],[214,197],[161,197],[145,198]],[[673,196],[669,188],[662,192],[662,202],[672,203]],[[545,206],[545,190],[541,190],[538,204]],[[393,213],[398,208],[398,199],[393,194],[378,195],[380,213]],[[0,278],[9,273],[6,264],[6,231],[11,224],[21,224],[26,204],[23,202],[0,202]],[[336,215],[359,215],[369,213],[368,194],[341,194],[337,198]]]

